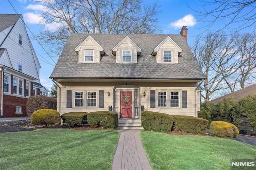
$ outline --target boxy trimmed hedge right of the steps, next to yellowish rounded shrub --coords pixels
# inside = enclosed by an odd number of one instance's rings
[[[207,125],[209,122],[208,120],[192,116],[172,116],[174,117],[173,129],[187,133],[206,133]]]

